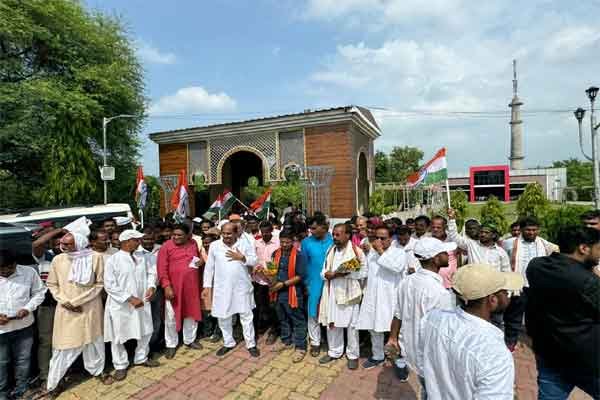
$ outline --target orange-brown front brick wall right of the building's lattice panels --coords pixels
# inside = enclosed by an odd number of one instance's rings
[[[349,124],[319,126],[305,130],[307,166],[335,168],[331,181],[331,217],[347,218],[356,213],[354,163]]]

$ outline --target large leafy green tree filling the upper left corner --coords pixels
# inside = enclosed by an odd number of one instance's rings
[[[142,67],[121,21],[75,0],[0,2],[0,207],[102,199],[102,117],[142,115]],[[129,201],[141,118],[113,121],[110,201]]]

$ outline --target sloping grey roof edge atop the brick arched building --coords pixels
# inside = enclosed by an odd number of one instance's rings
[[[377,138],[381,130],[369,109],[359,106],[333,107],[305,110],[301,113],[254,118],[185,129],[154,132],[150,139],[156,143],[181,143],[214,137],[258,133],[273,130],[290,130],[329,123],[354,121],[370,137]]]

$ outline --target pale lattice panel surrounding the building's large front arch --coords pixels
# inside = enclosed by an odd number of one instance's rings
[[[267,164],[265,180],[275,181],[279,178],[279,152],[277,133],[259,133],[254,135],[237,135],[210,140],[210,183],[221,183],[221,169],[227,158],[238,151],[250,151],[259,156]]]

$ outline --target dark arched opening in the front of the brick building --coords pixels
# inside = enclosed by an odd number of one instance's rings
[[[259,185],[263,184],[263,161],[251,151],[240,150],[225,160],[221,182],[224,188],[243,201],[242,189],[248,186],[248,179],[253,176],[258,178]]]

